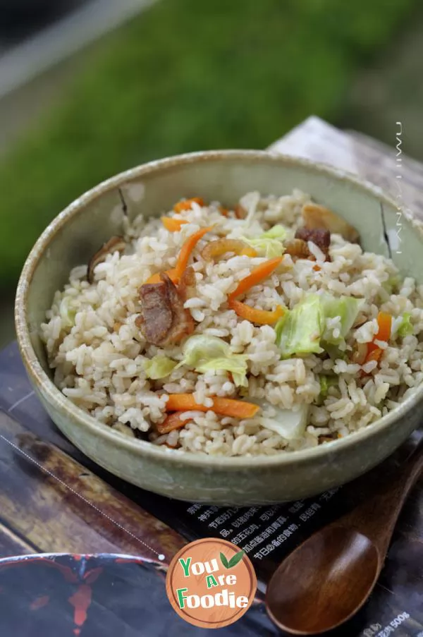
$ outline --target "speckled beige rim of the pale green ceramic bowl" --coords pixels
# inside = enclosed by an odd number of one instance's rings
[[[125,186],[125,184],[144,175],[164,171],[176,165],[195,164],[196,162],[220,162],[225,159],[238,159],[240,162],[266,161],[279,164],[281,167],[298,166],[302,169],[308,169],[309,171],[314,171],[328,178],[335,179],[336,181],[345,181],[356,190],[371,195],[379,202],[386,203],[398,210],[398,212],[403,215],[405,223],[410,224],[413,229],[419,233],[423,242],[423,224],[413,217],[407,207],[399,206],[398,202],[394,201],[393,198],[387,195],[379,186],[375,186],[369,181],[358,178],[348,171],[329,166],[329,164],[314,162],[310,159],[294,157],[271,150],[198,151],[178,154],[140,164],[139,166],[135,166],[102,181],[99,185],[87,190],[87,192],[71,202],[71,204],[60,212],[50,222],[47,228],[44,229],[25,260],[16,290],[15,325],[20,355],[23,358],[23,363],[25,364],[32,384],[42,392],[44,399],[54,406],[56,410],[65,411],[68,416],[77,420],[80,426],[86,427],[93,435],[102,437],[115,447],[121,447],[121,450],[132,452],[135,456],[142,456],[159,461],[165,460],[167,463],[180,466],[201,467],[203,470],[207,468],[221,468],[230,471],[246,468],[271,468],[274,466],[286,466],[291,463],[307,464],[324,456],[333,456],[337,451],[348,450],[350,447],[360,444],[364,439],[378,437],[381,432],[388,429],[388,427],[393,425],[398,419],[403,418],[412,408],[415,408],[419,402],[422,401],[423,384],[418,387],[413,394],[408,396],[403,403],[382,416],[382,418],[367,425],[367,427],[364,427],[362,430],[353,432],[352,435],[341,439],[333,440],[326,444],[318,445],[317,447],[309,447],[308,449],[281,451],[279,454],[272,456],[211,456],[209,454],[195,453],[192,451],[181,453],[178,449],[168,449],[168,447],[164,445],[155,445],[145,440],[125,436],[121,432],[113,430],[109,425],[100,423],[99,420],[93,418],[87,412],[83,411],[82,408],[73,404],[62,394],[56,385],[54,385],[54,382],[47,376],[47,373],[44,372],[41,363],[39,363],[30,340],[30,330],[27,322],[27,296],[32,275],[35,272],[37,264],[44,254],[44,251],[47,250],[50,241],[56,236],[56,233],[62,229],[63,226],[66,226],[69,219],[80,214],[88,204],[109,190]]]

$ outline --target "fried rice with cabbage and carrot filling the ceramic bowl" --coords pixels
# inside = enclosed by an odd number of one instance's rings
[[[289,246],[309,205],[309,195],[299,190],[282,197],[252,192],[228,210],[201,200],[176,206],[178,212],[166,213],[180,225],[176,231],[167,230],[161,219],[126,222],[124,250],[95,260],[90,283],[87,265],[73,269],[41,326],[56,386],[123,435],[179,452],[224,456],[326,444],[395,408],[423,380],[423,286],[400,277],[392,260],[364,252],[336,232],[330,233],[328,255],[313,241],[301,244],[307,256],[295,255]],[[266,233],[275,227],[279,232],[268,241]],[[205,228],[211,229],[189,255],[194,278],[183,297],[192,332],[164,344],[158,336],[154,344],[145,336],[140,289],[154,274],[174,270],[188,238]],[[204,248],[222,238],[252,250],[206,258]],[[269,261],[275,247],[278,266],[240,301],[269,317],[280,308],[283,316],[267,324],[255,322],[254,314],[247,320],[228,299],[240,281]],[[147,285],[163,285],[158,278]],[[321,310],[325,299],[341,309],[348,305],[345,299],[357,299],[346,334],[341,311]],[[316,325],[307,323],[314,320],[307,311],[310,300],[320,304]],[[295,322],[300,307],[307,319],[302,325],[299,317]],[[388,317],[383,337],[381,317]],[[302,345],[292,351],[301,329]],[[197,349],[208,348],[200,363],[187,354],[193,337]],[[216,359],[210,344],[221,348]],[[237,373],[231,371],[235,363]],[[194,408],[180,410],[178,425],[168,430],[163,426],[168,396],[187,394]],[[216,398],[248,401],[259,409],[250,418],[216,413]]]

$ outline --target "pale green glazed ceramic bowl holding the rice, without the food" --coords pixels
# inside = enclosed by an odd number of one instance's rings
[[[151,162],[104,181],[63,210],[25,262],[16,295],[16,332],[30,380],[61,431],[87,456],[128,482],[168,497],[215,504],[270,504],[314,495],[381,462],[419,425],[423,387],[366,429],[328,444],[269,457],[219,458],[156,447],[94,420],[51,382],[39,324],[72,267],[122,233],[123,215],[158,216],[200,195],[235,202],[248,190],[294,187],[341,214],[365,250],[388,254],[423,281],[423,232],[378,188],[327,166],[259,151],[198,152]],[[401,224],[400,239],[398,224]]]

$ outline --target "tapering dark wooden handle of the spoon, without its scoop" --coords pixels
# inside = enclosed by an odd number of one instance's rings
[[[408,459],[391,473],[374,493],[333,526],[354,528],[374,542],[381,554],[388,550],[405,499],[423,470],[423,439]],[[372,486],[370,485],[370,488]]]

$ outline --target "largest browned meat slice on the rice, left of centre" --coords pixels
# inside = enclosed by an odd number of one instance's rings
[[[194,320],[183,307],[184,298],[166,273],[160,283],[140,287],[141,314],[135,320],[145,339],[153,345],[177,343],[194,331]]]

